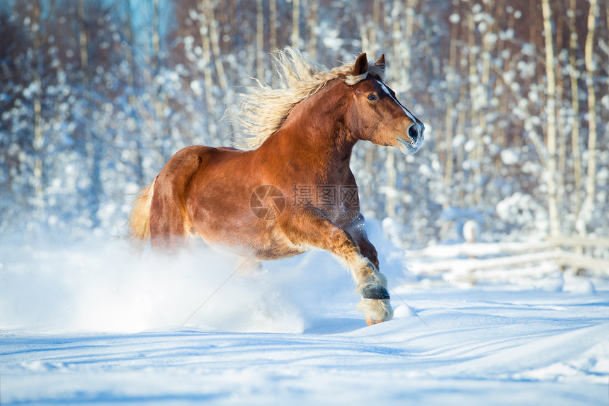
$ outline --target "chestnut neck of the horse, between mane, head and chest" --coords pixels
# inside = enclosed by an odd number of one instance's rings
[[[307,165],[312,176],[327,178],[349,171],[351,150],[357,140],[341,124],[346,103],[336,91],[340,86],[332,81],[298,103],[268,140],[275,153],[285,154],[290,162]]]

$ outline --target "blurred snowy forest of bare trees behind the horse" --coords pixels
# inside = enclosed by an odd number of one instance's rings
[[[360,142],[367,218],[397,243],[609,235],[609,0],[0,0],[4,237],[124,232],[186,145],[229,145],[269,52],[385,53],[426,125],[415,156]],[[227,114],[228,111],[228,114]]]

